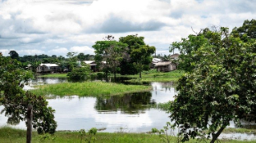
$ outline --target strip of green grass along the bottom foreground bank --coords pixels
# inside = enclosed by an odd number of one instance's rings
[[[160,137],[156,134],[145,134],[145,133],[96,133],[95,142],[102,143],[129,143],[129,142],[138,142],[138,143],[161,143]],[[175,142],[176,137],[170,137],[170,142]],[[83,137],[82,142],[86,142]],[[26,130],[22,129],[12,129],[10,127],[0,128],[0,142],[15,142],[23,143],[26,142]],[[80,135],[78,131],[57,131],[55,135],[39,135],[36,132],[32,133],[31,142],[55,142],[55,143],[73,143],[80,142]],[[188,143],[198,142],[197,140],[189,140]],[[204,141],[202,141],[204,142]],[[209,141],[206,141],[209,142]],[[227,143],[253,143],[255,141],[236,141],[236,140],[221,140],[221,142]]]

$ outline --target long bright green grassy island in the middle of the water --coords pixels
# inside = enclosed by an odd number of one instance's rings
[[[123,85],[102,81],[84,81],[84,82],[63,82],[52,85],[37,85],[37,89],[30,90],[36,95],[78,95],[78,96],[109,96],[121,95],[124,93],[134,93],[148,91],[152,87],[147,85]]]

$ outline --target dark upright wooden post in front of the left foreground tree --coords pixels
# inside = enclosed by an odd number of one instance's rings
[[[26,129],[26,143],[31,143],[32,138],[32,121],[33,121],[33,106],[28,105],[27,107],[27,129]]]

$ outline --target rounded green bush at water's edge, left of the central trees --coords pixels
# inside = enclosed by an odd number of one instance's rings
[[[90,77],[90,67],[77,67],[71,72],[67,73],[67,77],[72,81],[84,81]]]

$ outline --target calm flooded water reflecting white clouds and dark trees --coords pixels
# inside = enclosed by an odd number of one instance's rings
[[[55,84],[67,81],[60,78],[40,77],[30,82],[30,85]],[[148,104],[172,101],[176,91],[173,82],[152,82],[152,91],[144,93],[129,93],[124,96],[112,97],[56,97],[47,99],[55,109],[57,130],[105,129],[104,132],[144,133],[152,128],[162,129],[169,120],[169,113],[161,109],[148,107]],[[31,89],[26,86],[24,89]],[[0,106],[0,110],[2,110]],[[6,125],[7,117],[0,114],[0,126]],[[24,122],[15,125],[25,129]],[[235,127],[231,123],[230,127]],[[246,133],[221,134],[222,138],[256,139]]]

